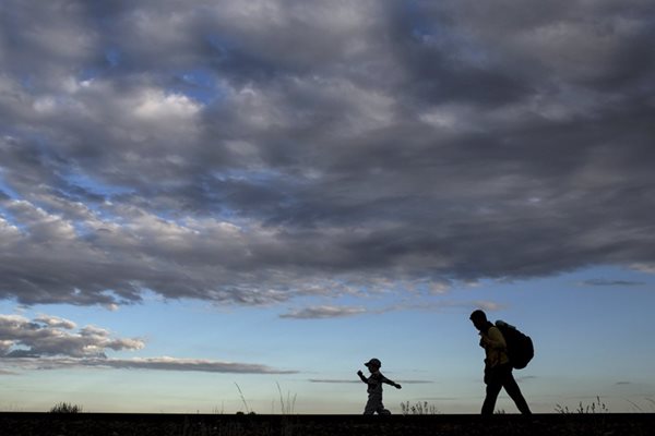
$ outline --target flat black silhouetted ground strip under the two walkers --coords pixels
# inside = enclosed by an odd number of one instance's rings
[[[0,413],[2,436],[652,436],[655,414],[221,415]]]

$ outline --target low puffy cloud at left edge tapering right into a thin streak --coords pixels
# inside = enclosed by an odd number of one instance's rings
[[[97,367],[114,370],[196,371],[238,374],[295,374],[267,365],[221,362],[202,359],[132,358],[115,359],[109,351],[138,351],[145,347],[140,339],[112,338],[110,332],[86,326],[78,332],[75,323],[40,315],[29,320],[21,315],[0,315],[0,373],[15,371]],[[15,371],[12,371],[15,370]]]

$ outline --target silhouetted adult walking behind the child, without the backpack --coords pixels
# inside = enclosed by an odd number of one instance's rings
[[[485,349],[485,384],[487,396],[483,403],[483,415],[493,414],[500,389],[504,388],[516,408],[523,414],[531,414],[529,407],[512,375],[512,364],[508,358],[507,343],[502,334],[487,319],[485,312],[477,310],[471,314],[471,320],[480,332],[480,347]]]

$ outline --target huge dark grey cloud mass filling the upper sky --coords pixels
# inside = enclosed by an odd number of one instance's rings
[[[654,9],[4,1],[0,296],[652,270]]]

